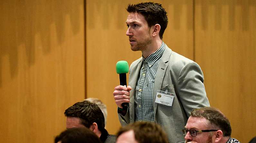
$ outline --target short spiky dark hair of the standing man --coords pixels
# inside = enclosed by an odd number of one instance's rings
[[[127,12],[137,12],[141,13],[149,27],[159,24],[161,29],[159,31],[159,36],[163,39],[163,34],[168,24],[167,12],[162,7],[162,4],[146,2],[139,4],[128,4]]]

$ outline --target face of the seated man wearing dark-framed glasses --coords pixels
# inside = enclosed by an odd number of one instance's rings
[[[208,127],[209,121],[205,118],[189,117],[185,126],[186,130],[211,130]],[[186,142],[194,141],[198,143],[213,143],[213,139],[209,136],[209,132],[197,132],[195,137],[190,135],[188,131],[185,140]]]

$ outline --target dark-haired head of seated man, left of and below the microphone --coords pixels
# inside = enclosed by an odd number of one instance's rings
[[[81,101],[65,110],[67,117],[66,127],[79,128],[87,127],[93,131],[98,137],[104,131],[105,122],[104,115],[98,105],[90,101]]]

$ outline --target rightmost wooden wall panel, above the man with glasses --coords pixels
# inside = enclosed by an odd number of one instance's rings
[[[255,7],[253,0],[195,1],[195,61],[211,106],[227,115],[241,142],[256,132]]]

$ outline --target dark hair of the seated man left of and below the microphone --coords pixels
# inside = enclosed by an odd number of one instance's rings
[[[97,123],[99,130],[102,132],[105,128],[104,115],[100,107],[90,101],[81,101],[67,108],[64,112],[67,117],[78,117],[81,119],[81,124],[90,128],[92,123]]]

